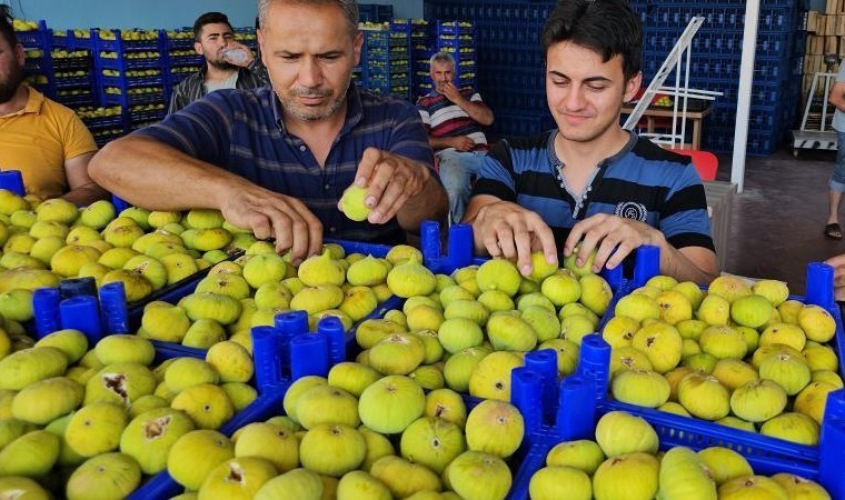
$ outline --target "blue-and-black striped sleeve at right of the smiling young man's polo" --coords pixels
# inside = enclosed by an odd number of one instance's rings
[[[715,251],[707,198],[693,164],[687,164],[666,196],[660,231],[675,248],[704,247]]]

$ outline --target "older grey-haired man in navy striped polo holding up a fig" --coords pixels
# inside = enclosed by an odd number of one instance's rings
[[[332,238],[405,241],[445,219],[446,192],[417,109],[350,84],[360,60],[355,0],[259,0],[258,42],[271,87],[219,90],[108,144],[91,177],[156,210],[219,209],[299,261]],[[372,210],[338,201],[367,188]]]

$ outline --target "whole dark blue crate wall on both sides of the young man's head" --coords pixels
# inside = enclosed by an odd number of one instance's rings
[[[632,0],[643,20],[644,86],[668,56],[693,16],[705,23],[693,41],[690,87],[724,92],[705,120],[703,149],[733,149],[745,2]],[[554,127],[546,108],[543,26],[555,1],[426,0],[427,19],[461,19],[476,28],[477,80],[496,114],[494,134],[536,133]],[[801,99],[805,0],[769,0],[760,7],[748,152],[766,156],[791,129]],[[667,84],[674,82],[674,74]]]

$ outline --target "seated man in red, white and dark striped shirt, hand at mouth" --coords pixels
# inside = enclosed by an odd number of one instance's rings
[[[474,89],[455,86],[455,59],[448,52],[431,57],[434,90],[417,108],[437,154],[440,180],[449,196],[449,214],[459,222],[469,199],[470,181],[487,154],[481,126],[493,123],[493,111]]]

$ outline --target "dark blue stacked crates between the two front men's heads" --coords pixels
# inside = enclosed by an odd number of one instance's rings
[[[554,128],[546,107],[539,33],[553,0],[505,2],[426,0],[428,19],[457,19],[475,28],[476,82],[496,120],[491,139]]]

